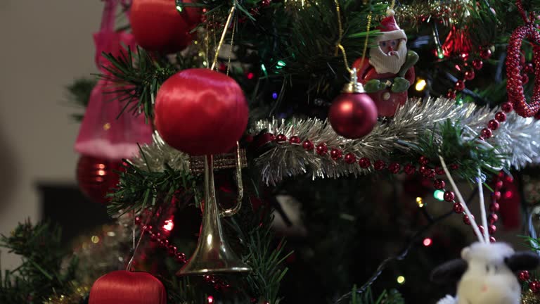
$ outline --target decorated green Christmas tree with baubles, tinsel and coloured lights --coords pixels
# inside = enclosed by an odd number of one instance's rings
[[[122,270],[167,303],[437,303],[458,286],[430,272],[474,234],[499,266],[512,250],[491,241],[525,234],[536,257],[536,1],[106,2],[141,44],[99,57],[107,113],[146,118],[152,142],[122,156],[113,228],[71,254],[40,251],[44,224],[2,239],[27,262],[0,299],[85,303]],[[450,175],[484,186],[462,197]],[[505,269],[521,294],[491,296],[535,303],[532,266]]]

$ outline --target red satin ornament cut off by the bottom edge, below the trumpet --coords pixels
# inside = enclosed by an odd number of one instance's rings
[[[92,285],[89,304],[165,304],[167,293],[148,272],[110,272]]]

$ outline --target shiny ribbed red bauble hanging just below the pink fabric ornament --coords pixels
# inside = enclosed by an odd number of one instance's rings
[[[79,189],[92,201],[108,203],[105,196],[118,184],[115,171],[122,168],[122,162],[81,156],[77,163],[77,182]]]

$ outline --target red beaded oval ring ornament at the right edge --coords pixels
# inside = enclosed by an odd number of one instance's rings
[[[527,102],[523,89],[521,77],[522,63],[521,45],[527,39],[533,45],[533,61],[536,70],[534,71],[534,91],[531,101]],[[508,41],[508,55],[506,57],[506,91],[508,91],[508,101],[513,104],[515,112],[522,117],[532,117],[540,110],[540,33],[536,30],[534,23],[527,22],[514,30]]]

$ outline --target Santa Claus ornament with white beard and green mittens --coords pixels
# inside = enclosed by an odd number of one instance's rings
[[[407,90],[414,81],[414,67],[418,54],[407,51],[407,36],[389,9],[378,30],[380,34],[369,50],[369,58],[359,58],[353,67],[358,71],[358,79],[371,96],[378,115],[392,117],[399,106],[408,98]]]

